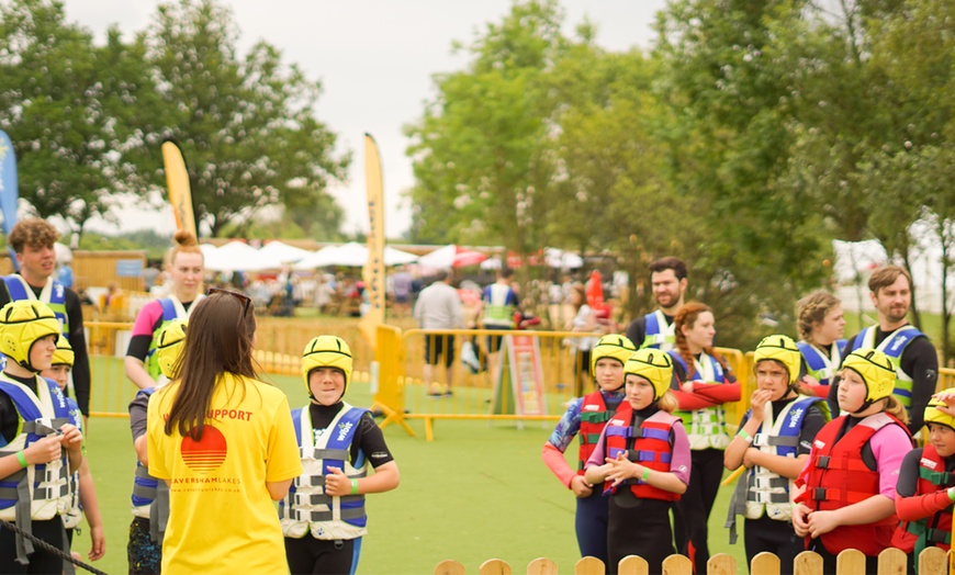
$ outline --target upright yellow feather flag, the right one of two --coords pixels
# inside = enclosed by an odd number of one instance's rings
[[[384,323],[384,191],[378,145],[364,135],[364,181],[368,189],[368,262],[361,270],[369,308],[358,328],[372,349],[378,326]]]

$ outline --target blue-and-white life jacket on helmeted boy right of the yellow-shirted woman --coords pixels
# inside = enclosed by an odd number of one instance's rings
[[[308,406],[292,410],[302,475],[295,477],[289,494],[279,503],[279,518],[285,537],[301,539],[311,531],[315,539],[357,539],[366,532],[368,516],[364,495],[325,495],[328,467],[338,467],[349,480],[364,477],[368,462],[363,453],[351,465],[351,441],[368,409],[342,403],[341,410],[314,440]]]

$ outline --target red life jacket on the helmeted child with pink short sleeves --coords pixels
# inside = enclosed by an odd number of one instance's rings
[[[883,411],[866,417],[836,441],[845,418],[838,417],[819,430],[810,455],[812,461],[796,481],[797,485],[806,485],[806,491],[797,501],[805,503],[812,510],[840,509],[878,495],[879,474],[863,462],[862,448],[887,425],[897,425],[909,435],[901,421]],[[833,555],[845,549],[857,549],[866,555],[877,556],[891,545],[892,531],[898,522],[899,518],[894,514],[873,523],[836,527],[819,539]],[[807,537],[807,549],[809,542],[810,538]]]

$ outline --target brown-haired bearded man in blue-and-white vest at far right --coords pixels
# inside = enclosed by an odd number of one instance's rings
[[[868,280],[869,297],[878,313],[878,325],[869,326],[846,343],[846,356],[860,348],[875,348],[892,361],[896,386],[892,395],[909,411],[909,431],[914,436],[924,424],[923,415],[935,392],[939,356],[929,338],[909,324],[912,277],[898,266],[884,266]],[[829,390],[829,404],[838,408],[839,377]],[[838,411],[833,410],[833,414]]]

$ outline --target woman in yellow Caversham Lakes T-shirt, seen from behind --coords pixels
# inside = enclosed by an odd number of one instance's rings
[[[210,290],[179,379],[147,416],[149,473],[169,484],[164,573],[288,573],[273,501],[302,474],[285,395],[257,381],[251,301]]]

